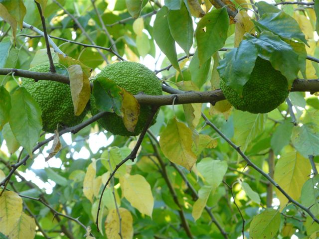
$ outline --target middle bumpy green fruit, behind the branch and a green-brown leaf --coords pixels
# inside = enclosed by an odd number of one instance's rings
[[[122,61],[105,67],[96,77],[106,77],[113,80],[119,87],[124,88],[133,95],[139,93],[146,95],[161,95],[161,84],[153,71],[140,63]],[[95,105],[94,97],[91,97],[91,113],[96,115],[99,111]],[[139,135],[151,114],[150,106],[141,106],[139,120],[136,124],[134,132],[130,132],[124,126],[121,117],[115,113],[107,113],[107,115],[98,120],[100,126],[113,134],[123,136]],[[154,117],[151,125],[156,122]]]

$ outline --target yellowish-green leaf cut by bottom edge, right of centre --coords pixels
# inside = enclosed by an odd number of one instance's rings
[[[266,209],[255,216],[250,223],[249,236],[251,239],[271,239],[277,234],[280,227],[280,212]]]

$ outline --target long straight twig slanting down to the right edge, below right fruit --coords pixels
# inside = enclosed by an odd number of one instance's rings
[[[319,224],[319,219],[316,218],[316,216],[310,211],[309,208],[306,208],[305,206],[303,206],[302,204],[300,204],[299,202],[297,202],[296,200],[294,200],[281,186],[278,185],[277,182],[275,182],[267,173],[265,173],[262,169],[260,169],[256,164],[254,164],[240,149],[239,146],[237,146],[236,144],[234,144],[225,134],[223,134],[223,132],[221,132],[216,126],[215,124],[213,124],[209,119],[207,119],[207,117],[202,113],[201,114],[202,118],[205,119],[205,122],[207,125],[209,125],[210,127],[212,127],[223,139],[225,139],[225,141],[227,143],[229,143],[230,146],[232,146],[239,154],[240,156],[243,157],[243,159],[247,162],[248,166],[251,166],[252,168],[254,168],[257,172],[259,172],[261,175],[263,175],[265,178],[267,178],[267,180],[269,182],[271,182],[282,194],[285,195],[285,197],[288,199],[288,202],[293,203],[294,205],[296,205],[297,207],[301,208],[302,210],[304,210],[305,212],[307,212],[309,214],[309,216],[313,219],[313,221],[315,221],[317,224]]]

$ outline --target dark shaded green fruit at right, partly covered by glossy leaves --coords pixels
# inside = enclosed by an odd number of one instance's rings
[[[282,104],[289,94],[286,77],[275,70],[269,61],[260,57],[256,59],[242,96],[226,86],[223,79],[220,81],[220,89],[237,110],[254,114],[271,112]]]

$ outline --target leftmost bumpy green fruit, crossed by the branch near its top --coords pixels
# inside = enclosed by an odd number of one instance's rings
[[[55,64],[55,70],[58,74],[68,75],[65,67]],[[48,63],[39,64],[29,69],[36,72],[50,72]],[[34,100],[39,104],[42,111],[43,130],[54,132],[59,126],[70,127],[79,124],[84,119],[87,110],[80,116],[74,115],[70,86],[64,83],[24,78],[22,86],[31,94]]]

